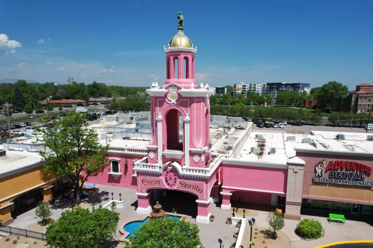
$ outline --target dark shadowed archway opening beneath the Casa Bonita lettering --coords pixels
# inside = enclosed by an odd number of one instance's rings
[[[162,205],[162,209],[171,213],[175,209],[176,213],[185,214],[196,218],[198,215],[198,204],[195,202],[197,196],[177,190],[153,190],[151,193],[151,205],[157,201]]]

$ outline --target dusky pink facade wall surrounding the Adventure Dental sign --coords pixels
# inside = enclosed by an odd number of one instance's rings
[[[363,158],[363,157],[357,157],[357,156],[341,156],[341,155],[333,155],[333,154],[325,154],[320,155],[316,153],[300,153],[297,152],[297,157],[304,160],[304,175],[303,175],[303,190],[302,195],[309,195],[310,194],[310,186],[313,185],[313,179],[316,176],[315,166],[316,163],[319,163],[323,159],[326,160],[326,166],[330,161],[352,161],[355,163],[362,163],[366,166],[369,166],[370,168],[373,168],[373,161],[369,160],[371,158]],[[323,178],[329,178],[329,172],[330,171],[341,171],[341,169],[334,169],[327,171],[322,177]],[[355,172],[353,170],[344,169],[342,171],[346,172]],[[356,171],[357,172],[357,171]],[[360,173],[360,172],[359,172]],[[364,174],[364,181],[366,182],[373,182],[373,175]],[[344,178],[338,178],[338,179],[344,179]],[[349,186],[353,187],[353,186]],[[359,187],[359,186],[358,186]],[[365,187],[366,188],[366,187]],[[338,189],[338,188],[336,188]],[[371,188],[372,190],[373,188]]]

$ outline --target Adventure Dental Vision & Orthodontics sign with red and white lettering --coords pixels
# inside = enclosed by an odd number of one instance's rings
[[[334,184],[345,184],[345,185],[358,185],[373,187],[373,182],[364,182],[365,177],[363,174],[366,174],[368,177],[372,173],[372,168],[363,165],[357,162],[351,161],[330,161],[326,166],[326,160],[320,161],[316,164],[316,176],[313,178],[314,182],[325,182],[325,183],[334,183]],[[322,178],[321,176],[329,171],[334,169],[341,169],[345,171],[330,171],[329,178]],[[317,177],[320,176],[320,177]],[[343,178],[343,179],[339,179]],[[359,180],[359,181],[358,181]]]

